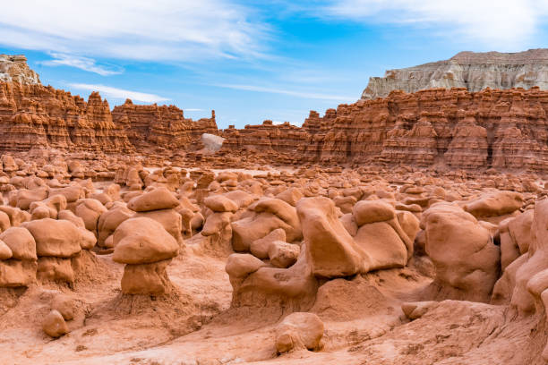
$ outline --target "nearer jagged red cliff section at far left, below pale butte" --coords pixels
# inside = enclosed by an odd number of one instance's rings
[[[86,103],[50,86],[0,83],[0,150],[45,147],[133,151],[124,131],[113,122],[107,100],[98,93]]]

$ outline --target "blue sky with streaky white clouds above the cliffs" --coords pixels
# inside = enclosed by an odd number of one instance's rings
[[[0,12],[0,52],[112,107],[300,125],[390,68],[548,47],[547,17],[548,0],[18,0]]]

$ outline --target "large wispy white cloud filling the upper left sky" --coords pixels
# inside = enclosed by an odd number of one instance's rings
[[[146,61],[261,55],[267,29],[231,0],[18,0],[0,12],[0,44]]]

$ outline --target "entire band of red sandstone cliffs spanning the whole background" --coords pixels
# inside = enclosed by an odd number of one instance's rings
[[[32,148],[105,153],[196,151],[202,133],[226,138],[219,156],[279,164],[383,164],[453,169],[548,169],[548,91],[428,89],[312,111],[302,127],[246,125],[218,131],[215,112],[199,121],[176,106],[127,100],[111,112],[40,84],[0,83],[0,151]]]

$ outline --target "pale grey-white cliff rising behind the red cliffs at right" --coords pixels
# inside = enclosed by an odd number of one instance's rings
[[[432,88],[548,89],[548,48],[519,53],[460,52],[446,61],[389,70],[372,77],[363,99],[384,98],[392,90],[415,92]]]

